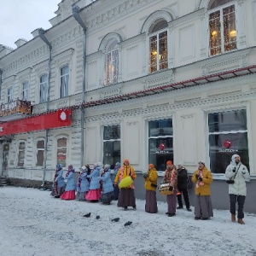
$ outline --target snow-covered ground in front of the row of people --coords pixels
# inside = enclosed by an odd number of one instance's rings
[[[116,201],[103,206],[62,201],[49,193],[0,189],[0,255],[256,255],[255,214],[246,214],[245,225],[231,223],[230,212],[220,210],[211,220],[195,220],[185,209],[171,218],[164,202],[150,214],[141,200],[137,211],[125,212]],[[88,212],[90,218],[84,218]],[[132,224],[125,226],[127,221]]]

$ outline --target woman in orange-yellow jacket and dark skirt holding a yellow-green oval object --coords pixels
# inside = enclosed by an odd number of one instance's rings
[[[130,165],[129,160],[125,159],[123,166],[119,168],[119,171],[114,179],[114,186],[118,186],[118,182],[127,176],[131,176],[133,180],[137,178],[137,174]],[[133,210],[136,210],[134,188],[134,184],[131,183],[131,185],[127,188],[120,189],[118,207],[124,207],[125,211],[128,209],[128,207],[132,207]]]

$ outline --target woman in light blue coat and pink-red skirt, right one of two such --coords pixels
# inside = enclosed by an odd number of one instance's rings
[[[90,177],[90,190],[87,195],[85,195],[85,199],[88,201],[97,202],[101,197],[100,183],[98,179],[98,177],[100,177],[101,170],[102,167],[99,166],[98,163],[95,163],[90,175],[87,175],[87,177]]]

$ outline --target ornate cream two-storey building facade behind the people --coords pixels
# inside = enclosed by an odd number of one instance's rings
[[[256,212],[255,0],[63,0],[55,13],[0,48],[2,175],[44,182],[57,163],[128,158],[161,176],[166,160],[189,172],[203,160],[228,208],[224,172],[240,154]]]

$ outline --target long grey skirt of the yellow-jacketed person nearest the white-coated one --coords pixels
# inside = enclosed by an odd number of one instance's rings
[[[195,195],[195,217],[213,217],[212,201],[210,195]]]

